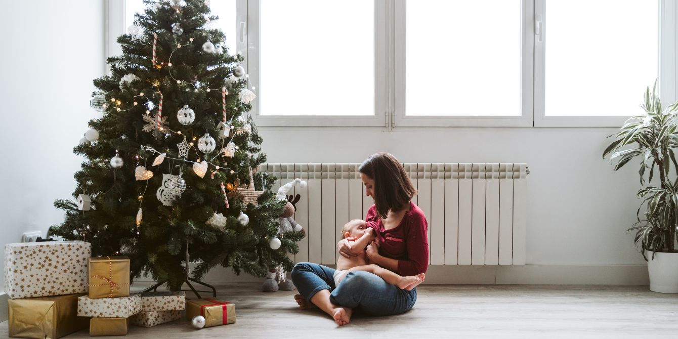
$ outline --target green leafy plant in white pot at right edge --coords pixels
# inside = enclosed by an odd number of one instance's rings
[[[646,169],[650,170],[648,186],[637,193],[637,197],[643,199],[636,212],[637,222],[627,232],[636,232],[635,244],[647,261],[650,290],[678,293],[678,251],[675,247],[678,178],[671,180],[671,167],[673,176],[677,176],[678,169],[674,152],[678,147],[678,102],[662,110],[655,83],[652,92],[647,87],[641,107],[645,113],[626,120],[619,132],[607,137],[614,136],[616,140],[605,148],[603,159],[612,154],[610,163],[614,161],[616,171],[639,157],[642,186],[645,185]],[[620,150],[627,145],[635,147]],[[659,172],[659,186],[650,185],[655,169]]]

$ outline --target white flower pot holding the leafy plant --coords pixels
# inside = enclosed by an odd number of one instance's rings
[[[650,273],[650,291],[678,293],[678,253],[646,251],[647,273]]]

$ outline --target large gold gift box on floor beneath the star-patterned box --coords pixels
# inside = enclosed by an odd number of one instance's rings
[[[77,316],[78,297],[83,295],[7,300],[9,336],[56,339],[87,328],[89,319]]]

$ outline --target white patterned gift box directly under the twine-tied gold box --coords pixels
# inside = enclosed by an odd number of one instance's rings
[[[141,312],[141,295],[119,298],[78,298],[79,317],[129,318]]]

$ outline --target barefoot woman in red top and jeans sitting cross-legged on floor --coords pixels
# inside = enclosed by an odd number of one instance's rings
[[[360,165],[358,172],[367,196],[374,199],[365,221],[374,225],[378,241],[367,246],[367,258],[399,275],[426,273],[428,222],[422,210],[410,202],[417,191],[401,163],[393,155],[376,153]],[[347,239],[337,247],[346,258],[363,250],[352,249]],[[292,269],[292,281],[300,293],[294,298],[299,306],[314,304],[338,325],[351,320],[354,308],[370,315],[396,315],[410,310],[417,299],[416,288],[401,290],[369,272],[348,273],[338,287],[333,275],[334,268],[312,262],[300,262]]]

